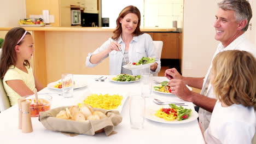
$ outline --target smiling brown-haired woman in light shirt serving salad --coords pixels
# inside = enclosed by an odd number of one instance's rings
[[[113,32],[113,37],[109,38],[93,53],[88,54],[86,66],[95,67],[109,56],[110,75],[139,75],[139,70],[128,70],[122,66],[126,65],[126,62],[137,62],[142,57],[154,57],[156,62],[151,65],[150,70],[151,73],[158,73],[161,68],[160,58],[157,55],[152,38],[149,34],[141,32],[140,25],[141,13],[138,8],[132,5],[124,8],[118,16],[117,28]]]

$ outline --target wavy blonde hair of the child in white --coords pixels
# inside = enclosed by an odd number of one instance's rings
[[[256,60],[247,51],[218,53],[212,63],[211,81],[217,99],[230,106],[255,106]]]

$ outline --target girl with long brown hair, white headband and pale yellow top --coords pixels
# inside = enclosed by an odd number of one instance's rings
[[[12,106],[17,103],[20,97],[34,94],[35,88],[38,91],[43,89],[33,74],[30,62],[28,62],[33,55],[33,46],[32,35],[24,28],[12,28],[5,35],[0,75]]]

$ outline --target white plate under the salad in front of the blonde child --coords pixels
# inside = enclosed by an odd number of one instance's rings
[[[145,113],[145,118],[150,119],[151,121],[160,122],[160,123],[179,124],[179,123],[188,123],[188,122],[194,121],[198,117],[198,113],[195,110],[192,110],[191,115],[189,116],[188,119],[185,119],[185,120],[182,120],[182,121],[177,121],[177,120],[166,121],[164,118],[160,118],[160,117],[155,116],[156,111],[158,111],[162,107],[163,108],[168,108],[170,106],[168,106],[168,105],[162,105],[162,106],[154,105],[154,106],[147,107],[146,113]],[[188,107],[185,107],[185,106],[183,106],[183,107],[188,109]]]

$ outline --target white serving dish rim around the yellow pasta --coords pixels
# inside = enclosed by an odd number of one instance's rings
[[[113,91],[109,91],[109,89],[94,89],[94,90],[90,89],[90,90],[86,91],[86,93],[83,96],[75,99],[75,104],[83,103],[85,98],[87,98],[91,94],[109,94],[109,95],[118,94],[118,95],[123,96],[123,99],[121,100],[121,104],[117,107],[117,109],[114,109],[114,110],[118,110],[120,113],[121,113],[123,106],[125,104],[125,101],[128,97],[127,93],[125,93],[125,92],[113,92]]]

